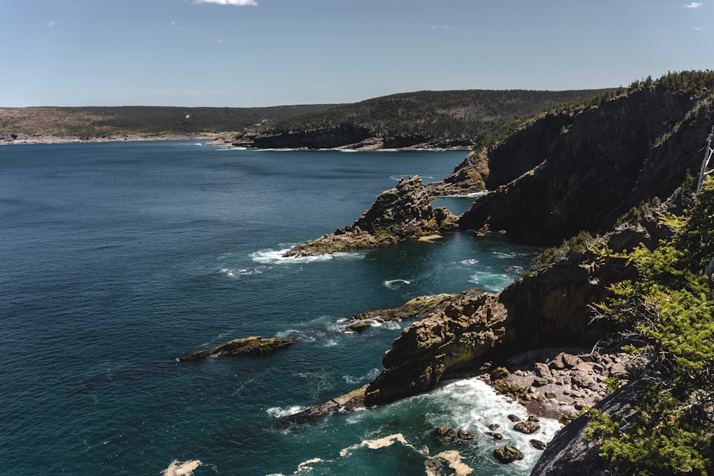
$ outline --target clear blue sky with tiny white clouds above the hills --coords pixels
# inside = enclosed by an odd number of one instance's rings
[[[714,69],[714,0],[0,0],[0,106],[277,106]]]

